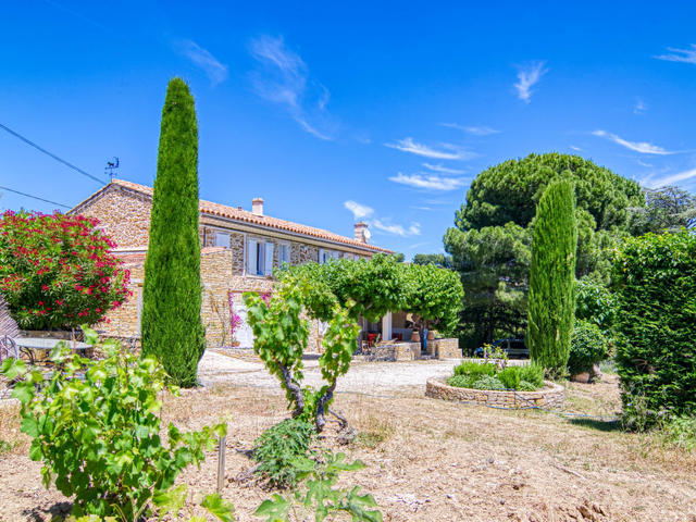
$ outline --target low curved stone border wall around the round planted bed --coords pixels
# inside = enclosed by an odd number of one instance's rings
[[[515,391],[497,389],[473,389],[449,386],[444,377],[428,378],[425,385],[425,396],[434,399],[459,400],[475,402],[499,408],[560,408],[563,406],[563,386],[544,381],[546,386],[535,391]]]

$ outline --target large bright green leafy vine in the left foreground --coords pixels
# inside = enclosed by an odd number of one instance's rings
[[[96,343],[94,332],[85,331]],[[22,405],[22,431],[33,438],[29,457],[44,461],[44,484],[54,482],[73,497],[74,515],[139,520],[153,496],[169,489],[189,463],[204,459],[225,426],[182,433],[170,423],[165,446],[158,398],[165,388],[164,370],[113,341],[101,349],[105,358],[91,361],[60,344],[51,352],[60,371],[48,382],[21,360],[7,359],[2,372],[20,380],[12,395]]]

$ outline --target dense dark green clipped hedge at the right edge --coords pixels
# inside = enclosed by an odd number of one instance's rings
[[[696,412],[696,235],[631,238],[613,269],[624,413],[649,424]]]

